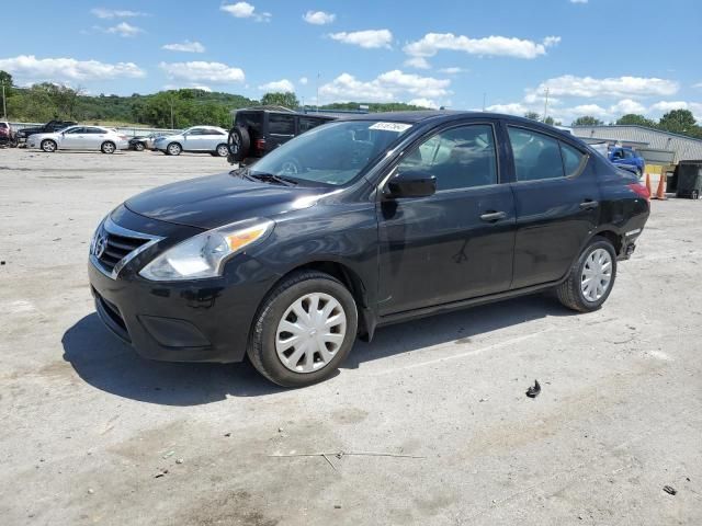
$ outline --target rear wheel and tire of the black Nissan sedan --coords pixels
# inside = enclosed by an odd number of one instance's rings
[[[600,272],[600,261],[604,261],[603,272]],[[587,275],[591,276],[587,282],[589,287],[586,285]],[[607,277],[609,281],[602,287]],[[596,236],[570,267],[566,281],[556,287],[558,300],[578,312],[592,312],[607,301],[614,287],[615,278],[616,252],[614,247],[608,239]],[[603,288],[601,294],[597,287],[598,282],[599,286]],[[591,288],[592,286],[596,287],[595,290]]]

